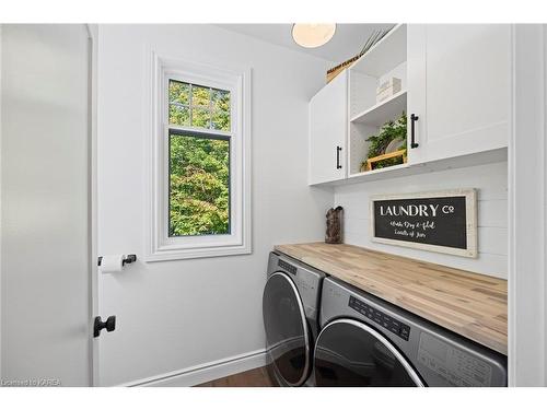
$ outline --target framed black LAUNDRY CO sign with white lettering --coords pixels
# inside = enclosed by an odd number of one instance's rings
[[[371,229],[373,242],[475,258],[476,190],[375,196]]]

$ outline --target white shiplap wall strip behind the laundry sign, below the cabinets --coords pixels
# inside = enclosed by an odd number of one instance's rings
[[[371,241],[370,196],[451,188],[478,189],[478,258],[377,244]],[[345,242],[396,255],[470,270],[508,276],[508,164],[496,163],[335,188],[335,206],[345,209]]]

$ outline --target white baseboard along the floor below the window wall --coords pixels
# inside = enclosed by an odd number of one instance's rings
[[[128,387],[188,387],[266,365],[266,351],[244,354],[129,382]]]

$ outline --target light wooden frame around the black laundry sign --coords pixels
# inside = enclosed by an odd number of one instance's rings
[[[424,244],[419,242],[400,241],[394,238],[379,237],[375,232],[375,212],[374,202],[385,200],[399,200],[399,199],[437,199],[437,198],[453,198],[465,197],[465,218],[466,218],[466,248],[440,246],[432,244]],[[429,191],[417,194],[393,194],[393,195],[376,195],[371,197],[370,200],[370,214],[371,214],[371,239],[372,242],[404,246],[421,250],[437,251],[441,254],[450,254],[464,256],[467,258],[476,258],[478,255],[477,249],[477,191],[476,189],[450,189],[442,191]]]

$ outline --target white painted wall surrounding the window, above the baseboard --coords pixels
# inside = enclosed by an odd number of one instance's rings
[[[102,276],[101,384],[182,373],[264,349],[261,293],[278,243],[322,239],[333,194],[306,187],[307,102],[330,63],[211,25],[104,25],[98,45],[98,249],[144,246],[151,113],[147,49],[211,66],[248,66],[252,84],[253,254],[138,261]]]

